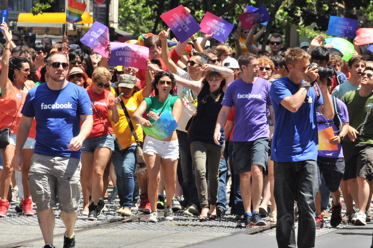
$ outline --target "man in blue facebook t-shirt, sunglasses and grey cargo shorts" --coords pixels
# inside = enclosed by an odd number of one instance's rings
[[[54,248],[52,207],[57,203],[66,227],[63,247],[75,247],[74,226],[81,195],[80,148],[92,130],[92,106],[87,91],[66,80],[69,61],[64,54],[52,54],[46,68],[49,81],[32,88],[26,96],[12,166],[19,171],[23,165],[22,147],[35,117],[36,144],[28,184],[37,206],[44,248]]]

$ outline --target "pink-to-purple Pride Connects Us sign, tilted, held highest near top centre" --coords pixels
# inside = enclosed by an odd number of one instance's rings
[[[164,13],[160,17],[180,42],[186,41],[201,29],[191,14],[185,15],[185,9],[182,5]]]

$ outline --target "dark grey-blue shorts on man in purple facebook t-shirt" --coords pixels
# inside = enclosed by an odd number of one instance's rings
[[[246,142],[232,141],[235,174],[250,172],[253,164],[263,166],[263,172],[265,172],[268,160],[268,141],[269,138],[258,138]]]

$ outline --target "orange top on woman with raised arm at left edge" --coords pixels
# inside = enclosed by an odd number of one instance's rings
[[[26,81],[25,87],[23,88],[23,95],[18,88],[13,87],[5,96],[0,99],[0,129],[10,128],[10,133],[17,133],[19,121],[21,120],[21,110],[25,103],[26,95],[29,91],[27,85],[31,85],[31,81]],[[18,110],[19,109],[19,110]],[[18,110],[18,113],[17,113]],[[16,117],[15,117],[16,116]],[[29,132],[29,138],[35,138],[36,135],[36,121],[32,122],[32,126]]]

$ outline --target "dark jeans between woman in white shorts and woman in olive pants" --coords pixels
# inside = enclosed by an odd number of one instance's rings
[[[195,184],[195,172],[190,151],[189,137],[186,132],[176,131],[179,140],[180,163],[183,177],[181,188],[183,190],[185,205],[196,204],[200,206],[198,199],[197,186]]]

